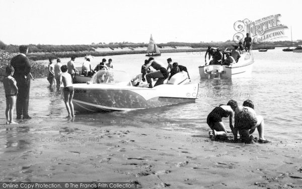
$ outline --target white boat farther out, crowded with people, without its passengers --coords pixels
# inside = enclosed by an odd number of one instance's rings
[[[254,64],[253,53],[244,52],[239,61],[236,64],[225,66],[225,65],[207,65],[200,66],[199,75],[200,78],[237,78],[248,76],[252,72],[252,66]]]

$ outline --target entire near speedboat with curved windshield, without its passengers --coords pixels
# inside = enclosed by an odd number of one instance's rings
[[[100,70],[91,81],[73,84],[72,101],[75,111],[78,112],[154,108],[195,102],[198,86],[199,84],[189,84],[185,73],[178,73],[169,82],[153,88],[134,87],[126,72]]]

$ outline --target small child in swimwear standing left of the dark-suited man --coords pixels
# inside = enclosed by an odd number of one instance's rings
[[[3,80],[4,90],[5,90],[5,96],[6,96],[6,111],[5,115],[7,117],[7,124],[18,124],[14,122],[14,108],[16,105],[16,99],[18,94],[18,87],[17,82],[15,78],[13,78],[15,69],[12,66],[7,66],[6,68],[6,74],[7,76]]]

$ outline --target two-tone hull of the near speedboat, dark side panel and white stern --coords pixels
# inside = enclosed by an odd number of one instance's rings
[[[163,84],[154,88],[110,84],[74,84],[73,105],[78,112],[127,111],[195,102],[198,84]]]

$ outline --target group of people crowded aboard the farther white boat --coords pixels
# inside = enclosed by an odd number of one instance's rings
[[[252,38],[248,33],[247,37],[244,39],[244,44],[242,45],[242,42],[239,41],[238,45],[234,45],[234,48],[232,50],[228,50],[228,48],[226,48],[224,51],[222,51],[220,50],[220,48],[214,49],[211,46],[208,46],[204,56],[205,66],[207,66],[207,64],[225,66],[236,64],[244,51],[250,52],[251,46]],[[207,55],[208,62],[206,61]],[[210,60],[211,58],[212,60]]]

